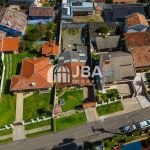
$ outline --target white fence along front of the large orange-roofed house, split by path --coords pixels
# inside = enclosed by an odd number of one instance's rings
[[[52,117],[45,117],[43,116],[42,119],[40,118],[36,118],[36,119],[31,119],[31,121],[29,122],[21,122],[22,125],[28,125],[28,124],[33,124],[33,123],[37,123],[37,122],[41,122],[41,121],[46,121],[46,120],[50,120]],[[8,129],[11,129],[11,128],[14,128],[14,125],[13,124],[10,124],[10,125],[5,125],[3,128],[0,128],[0,131],[3,131],[3,130],[8,130]]]

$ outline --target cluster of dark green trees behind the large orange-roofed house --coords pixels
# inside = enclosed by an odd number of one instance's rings
[[[51,41],[56,36],[56,23],[47,25],[28,25],[23,39],[19,43],[19,51],[40,52],[41,46],[33,44],[36,41]]]

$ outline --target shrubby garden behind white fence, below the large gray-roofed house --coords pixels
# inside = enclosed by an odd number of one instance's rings
[[[97,102],[102,102],[102,100],[104,102],[108,102],[108,100],[110,99],[110,101],[114,101],[118,98],[120,98],[120,95],[119,95],[119,92],[117,89],[110,89],[110,90],[107,90],[106,93],[99,93],[97,92],[96,93],[96,99],[97,99]]]

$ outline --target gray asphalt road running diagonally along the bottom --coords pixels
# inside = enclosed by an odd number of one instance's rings
[[[55,134],[0,145],[0,150],[43,150],[43,148],[51,149],[70,142],[80,145],[83,141],[97,141],[115,134],[122,134],[119,131],[120,127],[133,123],[133,121],[137,123],[148,119],[150,119],[150,108],[112,117],[104,122],[87,123]]]

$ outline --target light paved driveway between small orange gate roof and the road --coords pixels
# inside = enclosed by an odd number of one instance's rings
[[[86,109],[84,109],[84,111],[86,114],[87,122],[93,122],[93,121],[99,120],[97,110],[95,107],[86,108]]]

